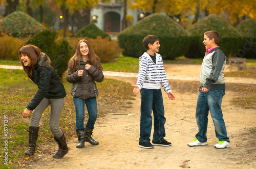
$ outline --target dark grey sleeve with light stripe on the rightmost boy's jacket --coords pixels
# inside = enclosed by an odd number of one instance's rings
[[[206,82],[203,86],[204,88],[210,89],[212,84],[218,80],[225,59],[225,55],[221,54],[220,50],[217,49],[217,51],[212,56],[212,70],[209,77],[206,78]]]

